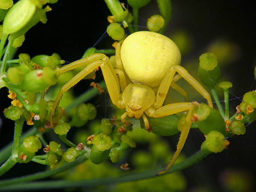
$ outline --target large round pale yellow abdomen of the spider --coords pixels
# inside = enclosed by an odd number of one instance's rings
[[[156,32],[140,31],[129,35],[122,43],[120,56],[131,81],[150,87],[159,86],[169,68],[180,64],[176,44]]]

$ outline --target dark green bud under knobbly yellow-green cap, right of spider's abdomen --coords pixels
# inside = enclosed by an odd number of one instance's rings
[[[221,69],[217,65],[213,70],[207,71],[204,70],[201,66],[199,66],[198,77],[206,87],[213,88],[221,78]]]

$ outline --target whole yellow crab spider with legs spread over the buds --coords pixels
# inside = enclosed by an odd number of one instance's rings
[[[122,122],[129,125],[130,123],[125,119],[126,116],[136,119],[142,116],[145,129],[149,129],[150,125],[145,114],[157,118],[188,111],[177,150],[166,169],[157,172],[157,175],[168,171],[180,154],[192,124],[190,119],[193,104],[188,102],[186,91],[175,84],[175,81],[180,78],[188,81],[207,99],[208,105],[212,107],[209,93],[180,66],[180,51],[176,44],[166,36],[155,32],[135,32],[116,45],[116,69],[113,68],[106,55],[96,53],[61,67],[58,75],[84,65],[86,67],[61,88],[52,107],[51,117],[54,115],[63,93],[100,67],[111,101],[118,108],[126,109],[121,116]],[[176,76],[175,73],[177,73]],[[162,106],[169,87],[180,92],[186,102]],[[52,119],[51,126],[53,127]]]

